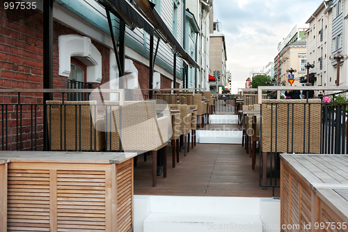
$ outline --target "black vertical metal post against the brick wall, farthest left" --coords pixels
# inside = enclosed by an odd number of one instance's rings
[[[53,2],[43,2],[43,88],[53,88]],[[44,93],[43,102],[53,100],[52,93]],[[44,150],[49,149],[47,109],[44,107]]]

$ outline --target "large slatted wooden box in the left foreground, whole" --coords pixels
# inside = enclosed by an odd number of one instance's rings
[[[132,231],[135,156],[1,152],[0,231]]]

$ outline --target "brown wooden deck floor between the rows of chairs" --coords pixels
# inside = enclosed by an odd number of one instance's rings
[[[157,176],[157,187],[152,187],[152,157],[143,161],[139,155],[134,168],[134,194],[168,196],[244,196],[271,197],[272,189],[259,187],[259,156],[255,170],[251,158],[241,145],[196,144],[172,168],[171,145],[168,145],[167,178]],[[279,189],[276,188],[276,197]]]

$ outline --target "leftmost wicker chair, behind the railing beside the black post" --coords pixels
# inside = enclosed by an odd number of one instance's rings
[[[105,148],[104,118],[91,114],[90,105],[95,105],[96,111],[96,101],[49,100],[46,104],[51,150],[100,151]]]

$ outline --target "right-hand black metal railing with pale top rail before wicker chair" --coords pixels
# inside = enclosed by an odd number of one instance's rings
[[[262,102],[260,130],[260,186],[280,187],[280,153],[347,154],[348,103],[334,102],[347,86],[260,86],[259,91],[340,91],[313,100]],[[331,97],[329,103],[323,98]],[[320,99],[320,100],[319,100]],[[336,98],[337,99],[337,98]],[[265,123],[265,124],[264,124]],[[263,125],[264,124],[264,125]],[[267,144],[268,143],[268,144]]]

